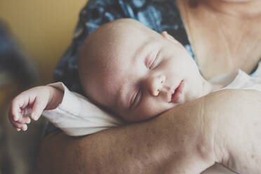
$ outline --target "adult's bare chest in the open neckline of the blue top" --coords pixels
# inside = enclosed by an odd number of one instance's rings
[[[248,74],[261,58],[261,16],[236,18],[203,7],[180,6],[189,41],[206,79],[242,69]]]

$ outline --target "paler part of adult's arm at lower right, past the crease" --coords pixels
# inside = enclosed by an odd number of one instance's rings
[[[217,162],[237,173],[261,173],[261,93],[232,90],[209,98],[219,108],[208,109],[217,117]]]

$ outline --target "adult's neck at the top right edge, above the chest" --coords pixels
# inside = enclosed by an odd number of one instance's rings
[[[193,0],[192,0],[193,1]],[[260,18],[260,0],[197,0],[214,11],[236,18]]]

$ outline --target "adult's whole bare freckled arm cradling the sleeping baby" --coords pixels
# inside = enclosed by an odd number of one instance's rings
[[[255,91],[218,91],[145,123],[81,138],[53,133],[41,146],[39,173],[194,174],[215,161],[258,173],[260,97]]]

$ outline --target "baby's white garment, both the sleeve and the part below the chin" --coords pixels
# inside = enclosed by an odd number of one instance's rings
[[[210,83],[226,86],[222,89],[261,91],[261,78],[248,76],[240,69],[236,72],[217,76],[215,79],[211,79]],[[43,115],[67,135],[89,135],[124,124],[121,119],[102,111],[87,98],[69,91],[63,83],[52,83],[50,86],[64,91],[64,96],[62,103],[56,109],[44,111]]]

